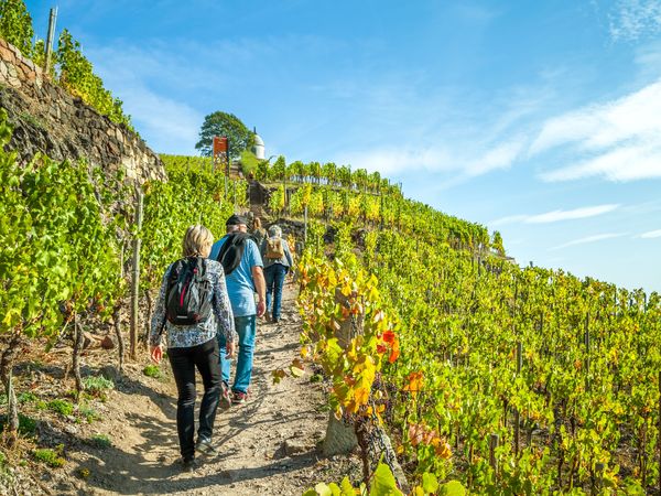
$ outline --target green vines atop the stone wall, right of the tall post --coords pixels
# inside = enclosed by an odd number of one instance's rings
[[[113,98],[104,82],[94,74],[91,63],[83,55],[80,43],[67,30],[62,30],[55,60],[59,65],[59,84],[113,122],[123,123],[132,130],[130,116],[122,109],[122,101]]]

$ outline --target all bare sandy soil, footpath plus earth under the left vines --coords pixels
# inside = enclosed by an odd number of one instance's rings
[[[29,449],[24,450],[24,461],[10,463],[13,466],[0,477],[0,493],[301,495],[318,482],[340,481],[347,474],[358,478],[356,456],[325,459],[319,453],[328,420],[323,382],[312,382],[312,371],[305,370],[299,378],[286,377],[273,384],[271,373],[286,370],[300,351],[301,323],[291,285],[285,287],[283,298],[283,320],[279,324],[258,324],[248,402],[228,411],[218,410],[214,442],[219,455],[198,456],[193,472],[183,470],[176,438],[176,388],[170,365],[161,366],[161,378],[148,377],[143,374],[149,363],[144,353],[141,363],[124,366],[123,376],[116,380],[107,400],[94,403],[100,419],[87,423],[80,422],[79,414],[53,414],[37,422],[37,439],[31,442],[59,445],[63,467],[46,467],[30,455]],[[85,357],[86,364],[93,362],[97,362],[98,371],[116,362],[116,352],[99,348]],[[94,371],[94,367],[87,370]],[[54,385],[62,384],[41,374],[48,379],[43,384],[51,379]],[[201,396],[198,390],[198,399]],[[110,443],[93,442],[99,435]]]

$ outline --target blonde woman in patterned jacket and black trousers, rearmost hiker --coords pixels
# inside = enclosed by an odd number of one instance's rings
[[[217,454],[212,444],[221,390],[217,334],[225,339],[227,358],[234,355],[236,343],[223,266],[206,259],[213,240],[212,233],[204,226],[195,225],[186,230],[184,258],[165,270],[149,337],[151,358],[159,364],[163,357],[161,337],[163,333],[166,335],[167,357],[178,393],[176,430],[186,470],[194,466],[195,451]],[[195,368],[204,384],[196,443],[193,442]]]

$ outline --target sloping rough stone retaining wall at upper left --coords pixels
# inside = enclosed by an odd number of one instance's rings
[[[165,180],[161,159],[122,125],[52,83],[41,67],[0,39],[0,107],[14,126],[9,148],[29,162],[42,152],[54,160],[86,159],[139,183]]]

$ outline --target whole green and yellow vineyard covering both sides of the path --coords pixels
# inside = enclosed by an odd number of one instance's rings
[[[0,35],[42,64],[17,6],[2,3]],[[66,30],[54,62],[61,86],[130,127]],[[318,481],[306,495],[660,494],[658,293],[521,268],[498,231],[365,169],[280,157],[253,163],[247,181],[208,158],[161,155],[167,181],[137,185],[84,161],[19,163],[11,133],[0,109],[0,473],[43,451],[21,412],[32,392],[15,386],[24,355],[71,343],[69,396],[89,412],[85,330],[113,330],[120,371],[136,359],[186,227],[218,238],[229,215],[254,206],[257,181],[268,191],[257,207],[301,247],[300,357],[273,380],[318,375],[329,423],[353,432],[362,462],[360,481]]]

